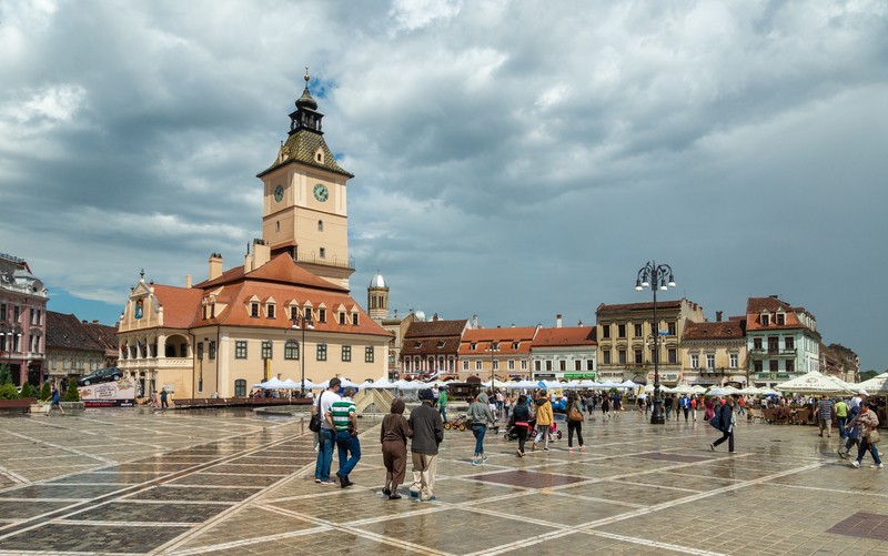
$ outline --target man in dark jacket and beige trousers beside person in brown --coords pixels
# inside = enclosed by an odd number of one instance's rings
[[[420,502],[434,502],[435,472],[437,469],[437,447],[444,441],[444,423],[441,414],[432,407],[434,396],[431,390],[420,392],[422,405],[410,413],[410,427],[413,429],[410,451],[413,457],[413,484],[411,498]]]

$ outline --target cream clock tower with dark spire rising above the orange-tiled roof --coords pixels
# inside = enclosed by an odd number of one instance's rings
[[[256,175],[264,186],[262,239],[271,255],[289,253],[303,269],[349,287],[346,182],[354,178],[324,141],[317,102],[305,90],[290,114],[290,132],[274,163]]]

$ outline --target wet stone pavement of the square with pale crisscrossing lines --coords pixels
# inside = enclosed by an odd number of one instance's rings
[[[886,554],[888,476],[815,427],[586,422],[518,458],[447,431],[437,502],[380,494],[379,426],[351,488],[313,482],[305,423],[252,412],[90,410],[0,418],[0,554]],[[334,461],[333,468],[337,467]],[[407,472],[410,477],[410,468]]]

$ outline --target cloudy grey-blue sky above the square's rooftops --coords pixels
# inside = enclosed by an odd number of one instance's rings
[[[105,324],[242,262],[306,67],[362,305],[593,324],[656,261],[888,367],[882,0],[0,0],[0,252]]]

